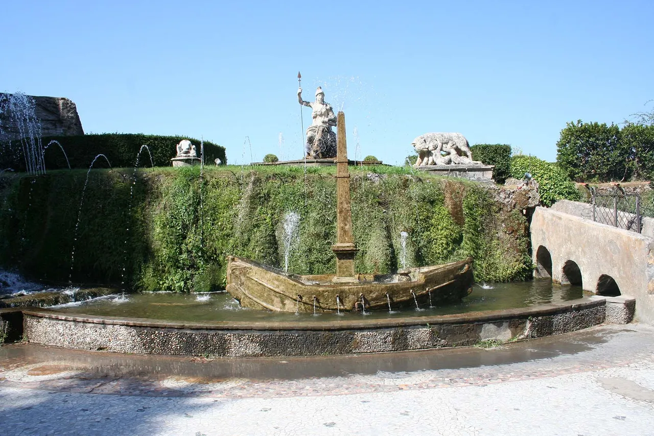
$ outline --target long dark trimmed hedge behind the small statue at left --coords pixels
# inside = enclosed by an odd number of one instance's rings
[[[142,133],[101,133],[99,135],[43,137],[41,143],[47,146],[50,141],[58,141],[68,156],[71,168],[88,168],[95,156],[104,154],[111,166],[133,167],[136,164],[137,153],[141,146],[146,145],[152,154],[155,167],[171,166],[171,158],[177,154],[175,146],[182,139],[190,140],[200,154],[198,139],[182,136],[143,135]],[[20,149],[16,144],[14,149]],[[4,150],[12,148],[12,144],[3,144]],[[216,158],[227,163],[223,146],[204,141],[205,165],[213,165]],[[0,156],[0,167],[10,167],[15,171],[25,171],[24,158],[17,154],[3,153]],[[104,159],[103,159],[104,160]],[[104,163],[106,166],[107,164]],[[143,150],[139,156],[139,167],[150,167],[148,152]],[[46,170],[67,169],[66,159],[57,144],[51,144],[45,151]]]

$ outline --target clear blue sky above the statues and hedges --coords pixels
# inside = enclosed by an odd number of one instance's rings
[[[430,131],[553,161],[566,122],[654,106],[652,1],[5,0],[0,16],[1,91],[68,97],[86,133],[204,137],[230,163],[250,161],[246,136],[255,161],[301,158],[298,70],[305,99],[320,85],[345,111],[349,156],[387,163]]]

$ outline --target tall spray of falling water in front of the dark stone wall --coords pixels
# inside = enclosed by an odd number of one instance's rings
[[[5,114],[9,125],[16,129],[20,137],[20,151],[25,159],[27,174],[45,174],[43,163],[43,144],[41,144],[41,120],[36,116],[36,102],[22,92],[0,96],[0,114]],[[1,133],[9,133],[0,126]],[[6,151],[6,150],[5,150]],[[13,152],[13,150],[10,150]]]

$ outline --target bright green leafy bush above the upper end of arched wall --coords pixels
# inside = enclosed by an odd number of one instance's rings
[[[543,205],[551,206],[560,199],[578,200],[579,191],[565,171],[555,163],[546,162],[534,156],[513,156],[511,158],[511,176],[524,178],[531,173],[538,182],[538,192]]]

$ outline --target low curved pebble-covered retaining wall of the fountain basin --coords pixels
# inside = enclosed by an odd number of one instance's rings
[[[605,301],[588,298],[524,309],[362,322],[182,324],[24,311],[31,343],[177,356],[313,356],[466,346],[567,333],[602,324]]]

